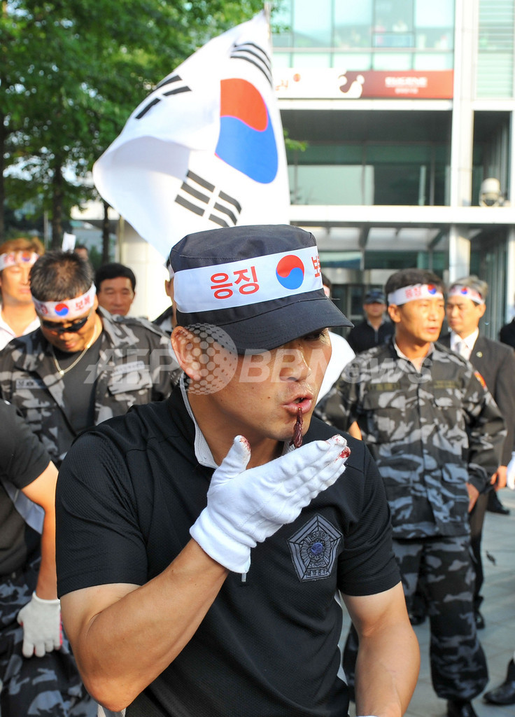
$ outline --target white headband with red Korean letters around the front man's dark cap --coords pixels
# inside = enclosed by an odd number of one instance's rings
[[[185,269],[174,275],[174,300],[182,313],[246,306],[317,289],[322,289],[317,247]]]

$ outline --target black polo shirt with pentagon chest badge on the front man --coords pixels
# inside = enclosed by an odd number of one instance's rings
[[[313,419],[304,441],[334,432]],[[179,388],[77,439],[57,487],[59,595],[144,584],[173,561],[213,473],[194,440]],[[127,717],[347,714],[335,595],[375,594],[400,580],[382,481],[365,445],[348,440],[345,473],[251,551],[246,576],[229,574],[196,634]]]

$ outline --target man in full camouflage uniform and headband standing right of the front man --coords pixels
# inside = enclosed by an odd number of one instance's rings
[[[385,290],[395,340],[345,367],[324,414],[361,429],[385,483],[408,609],[418,576],[425,585],[433,687],[449,717],[473,717],[471,700],[488,674],[474,622],[467,513],[499,465],[506,431],[472,366],[433,343],[445,315],[441,280],[403,270]],[[349,642],[351,680],[353,655]]]

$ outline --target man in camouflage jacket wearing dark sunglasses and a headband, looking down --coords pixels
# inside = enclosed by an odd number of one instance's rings
[[[98,309],[92,268],[47,252],[30,285],[41,326],[0,353],[0,392],[59,467],[74,437],[135,404],[168,397],[178,364],[150,322]]]

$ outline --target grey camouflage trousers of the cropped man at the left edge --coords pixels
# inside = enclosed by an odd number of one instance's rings
[[[0,716],[95,717],[97,705],[87,694],[69,642],[44,657],[21,654],[23,629],[16,616],[31,599],[39,559],[27,570],[0,579]]]

